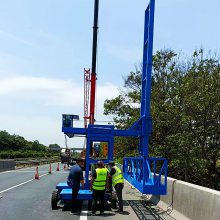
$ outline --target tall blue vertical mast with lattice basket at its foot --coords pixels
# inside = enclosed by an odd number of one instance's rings
[[[133,125],[133,127],[137,127],[139,130],[141,129],[139,154],[142,157],[124,158],[123,172],[124,178],[142,193],[164,195],[167,193],[167,160],[164,158],[148,157],[149,138],[152,133],[150,100],[153,63],[154,11],[155,0],[150,0],[145,11],[141,116]]]

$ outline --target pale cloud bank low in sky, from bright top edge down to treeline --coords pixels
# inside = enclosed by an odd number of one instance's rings
[[[46,145],[58,143],[64,146],[61,114],[83,115],[83,93],[83,83],[78,84],[71,80],[24,75],[1,78],[0,101],[3,100],[4,108],[0,109],[0,130],[21,135],[27,140],[39,140]],[[110,83],[97,85],[97,119],[104,119],[102,116],[104,100],[117,95],[118,89],[115,85]],[[17,103],[25,107],[16,110],[15,107],[9,107],[16,106]],[[25,112],[24,108],[28,109],[28,115],[25,115],[27,109]],[[68,112],[71,109],[74,112]],[[83,127],[82,118],[75,126]],[[82,142],[83,140],[78,138],[68,140],[70,146],[80,147]]]

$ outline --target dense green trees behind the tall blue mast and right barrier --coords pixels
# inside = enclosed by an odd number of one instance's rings
[[[140,115],[141,68],[124,77],[120,95],[104,103],[119,129]],[[170,177],[220,190],[220,62],[196,50],[185,58],[172,50],[153,57],[151,157],[168,159]],[[139,141],[116,138],[116,158],[138,155]]]

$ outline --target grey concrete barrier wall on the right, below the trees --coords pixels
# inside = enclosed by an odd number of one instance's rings
[[[173,201],[173,215],[176,219],[219,220],[220,192],[195,184],[168,178],[168,194],[153,196],[163,209]]]

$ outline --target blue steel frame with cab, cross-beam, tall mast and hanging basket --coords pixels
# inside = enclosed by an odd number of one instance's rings
[[[145,11],[144,48],[143,48],[143,73],[141,92],[141,113],[137,120],[128,130],[117,130],[112,125],[92,125],[88,128],[74,128],[74,117],[63,115],[62,132],[69,137],[85,136],[86,144],[86,189],[89,188],[90,165],[96,163],[96,159],[90,158],[90,146],[94,141],[108,143],[108,158],[103,160],[108,163],[113,160],[114,137],[139,137],[140,157],[124,158],[123,174],[132,185],[144,194],[164,195],[167,191],[167,160],[164,158],[149,158],[149,138],[152,133],[152,118],[150,114],[151,98],[151,73],[153,57],[153,28],[154,28],[155,0],[150,3]],[[64,120],[65,119],[65,120]],[[67,120],[67,121],[66,121]],[[68,122],[68,120],[70,120]],[[65,123],[64,123],[65,122]],[[87,199],[90,199],[88,195]]]

